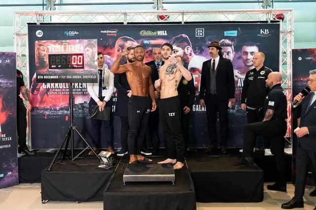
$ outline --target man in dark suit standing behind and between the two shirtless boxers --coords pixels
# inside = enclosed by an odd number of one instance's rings
[[[152,69],[152,81],[153,84],[155,84],[155,81],[159,79],[158,76],[158,69],[164,64],[164,61],[162,60],[161,55],[161,49],[160,48],[154,48],[152,51],[153,60],[145,63],[146,65],[149,65]],[[158,100],[160,95],[158,94],[157,90],[155,89],[155,98]],[[151,112],[149,115],[149,134],[150,138],[153,144],[153,152],[156,153],[159,150],[159,136],[158,136],[158,130],[159,130],[159,114],[158,114],[158,108]]]

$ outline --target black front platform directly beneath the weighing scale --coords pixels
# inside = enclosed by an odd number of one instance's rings
[[[153,157],[155,162],[163,159]],[[121,159],[110,187],[104,192],[104,210],[196,209],[194,185],[186,166],[175,171],[174,185],[171,182],[126,182],[123,185],[127,162],[127,158]]]

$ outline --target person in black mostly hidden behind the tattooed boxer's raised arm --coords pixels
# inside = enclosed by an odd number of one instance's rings
[[[180,56],[176,56],[175,58],[183,64],[182,58]],[[181,111],[182,111],[181,112],[182,135],[183,135],[183,139],[185,143],[185,148],[186,150],[189,150],[190,112],[192,110],[195,96],[196,96],[196,88],[194,86],[194,81],[193,80],[188,81],[182,76],[177,90],[180,97]]]

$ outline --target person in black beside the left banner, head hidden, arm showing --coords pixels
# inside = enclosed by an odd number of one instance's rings
[[[26,108],[23,103],[23,99],[20,97],[20,92],[26,101]],[[32,105],[30,102],[30,93],[28,89],[24,85],[23,74],[21,71],[16,69],[16,122],[17,122],[17,133],[18,133],[18,152],[24,152],[28,155],[34,155],[34,151],[30,151],[26,146],[26,111],[30,111],[32,109]]]

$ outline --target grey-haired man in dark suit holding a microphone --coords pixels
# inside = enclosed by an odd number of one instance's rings
[[[305,180],[310,163],[316,171],[316,69],[310,71],[308,86],[311,92],[306,97],[301,94],[294,97],[299,106],[293,111],[297,110],[300,117],[299,127],[294,130],[298,137],[295,191],[292,200],[282,204],[282,209],[304,207]]]

